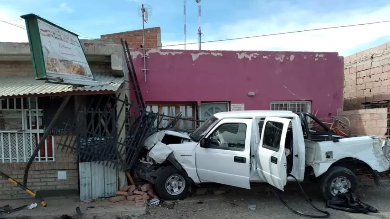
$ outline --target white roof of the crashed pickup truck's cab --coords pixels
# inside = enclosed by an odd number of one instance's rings
[[[298,117],[292,111],[284,110],[245,110],[215,113],[215,117],[222,118],[252,118],[252,117]]]

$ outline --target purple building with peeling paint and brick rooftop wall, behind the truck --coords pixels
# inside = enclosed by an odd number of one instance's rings
[[[150,111],[203,121],[216,112],[244,109],[316,111],[318,118],[342,110],[344,61],[338,53],[160,49],[161,29],[154,27],[145,29],[144,58],[138,46],[142,30],[101,35],[113,42],[120,38],[133,48]],[[184,129],[199,124],[180,123]]]

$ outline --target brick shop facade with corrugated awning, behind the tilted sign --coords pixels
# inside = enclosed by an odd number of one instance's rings
[[[122,47],[106,41],[81,43],[96,81],[101,82],[99,86],[77,88],[36,80],[28,43],[0,42],[1,171],[18,182],[23,181],[26,164],[39,140],[61,102],[71,96],[28,173],[28,188],[42,196],[79,194],[80,180],[85,178],[85,173],[79,171],[79,158],[74,151],[58,147],[66,122],[76,115],[76,106],[96,95],[127,95],[129,92]],[[101,110],[99,108],[99,112]],[[89,114],[87,112],[87,117]],[[114,115],[114,118],[120,116]],[[124,174],[112,177],[115,193],[119,184],[126,183],[126,178]],[[0,199],[28,197],[25,191],[0,178]]]

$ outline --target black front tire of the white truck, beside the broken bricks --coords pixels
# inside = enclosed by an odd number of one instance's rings
[[[169,190],[167,188],[168,179],[171,179],[171,177],[176,178],[177,182],[183,183],[181,187],[180,186],[177,187],[179,189],[177,193],[172,193],[173,190]],[[176,182],[173,183],[176,184]],[[161,172],[156,177],[156,182],[154,183],[154,189],[158,194],[158,196],[160,196],[160,198],[162,198],[163,200],[167,200],[167,201],[181,200],[187,198],[189,192],[188,191],[189,186],[190,184],[186,181],[186,178],[174,166],[167,166],[166,168],[161,170]]]

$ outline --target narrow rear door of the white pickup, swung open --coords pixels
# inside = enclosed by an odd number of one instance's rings
[[[282,191],[287,184],[284,147],[289,123],[287,118],[266,117],[257,150],[257,171],[260,178]]]

